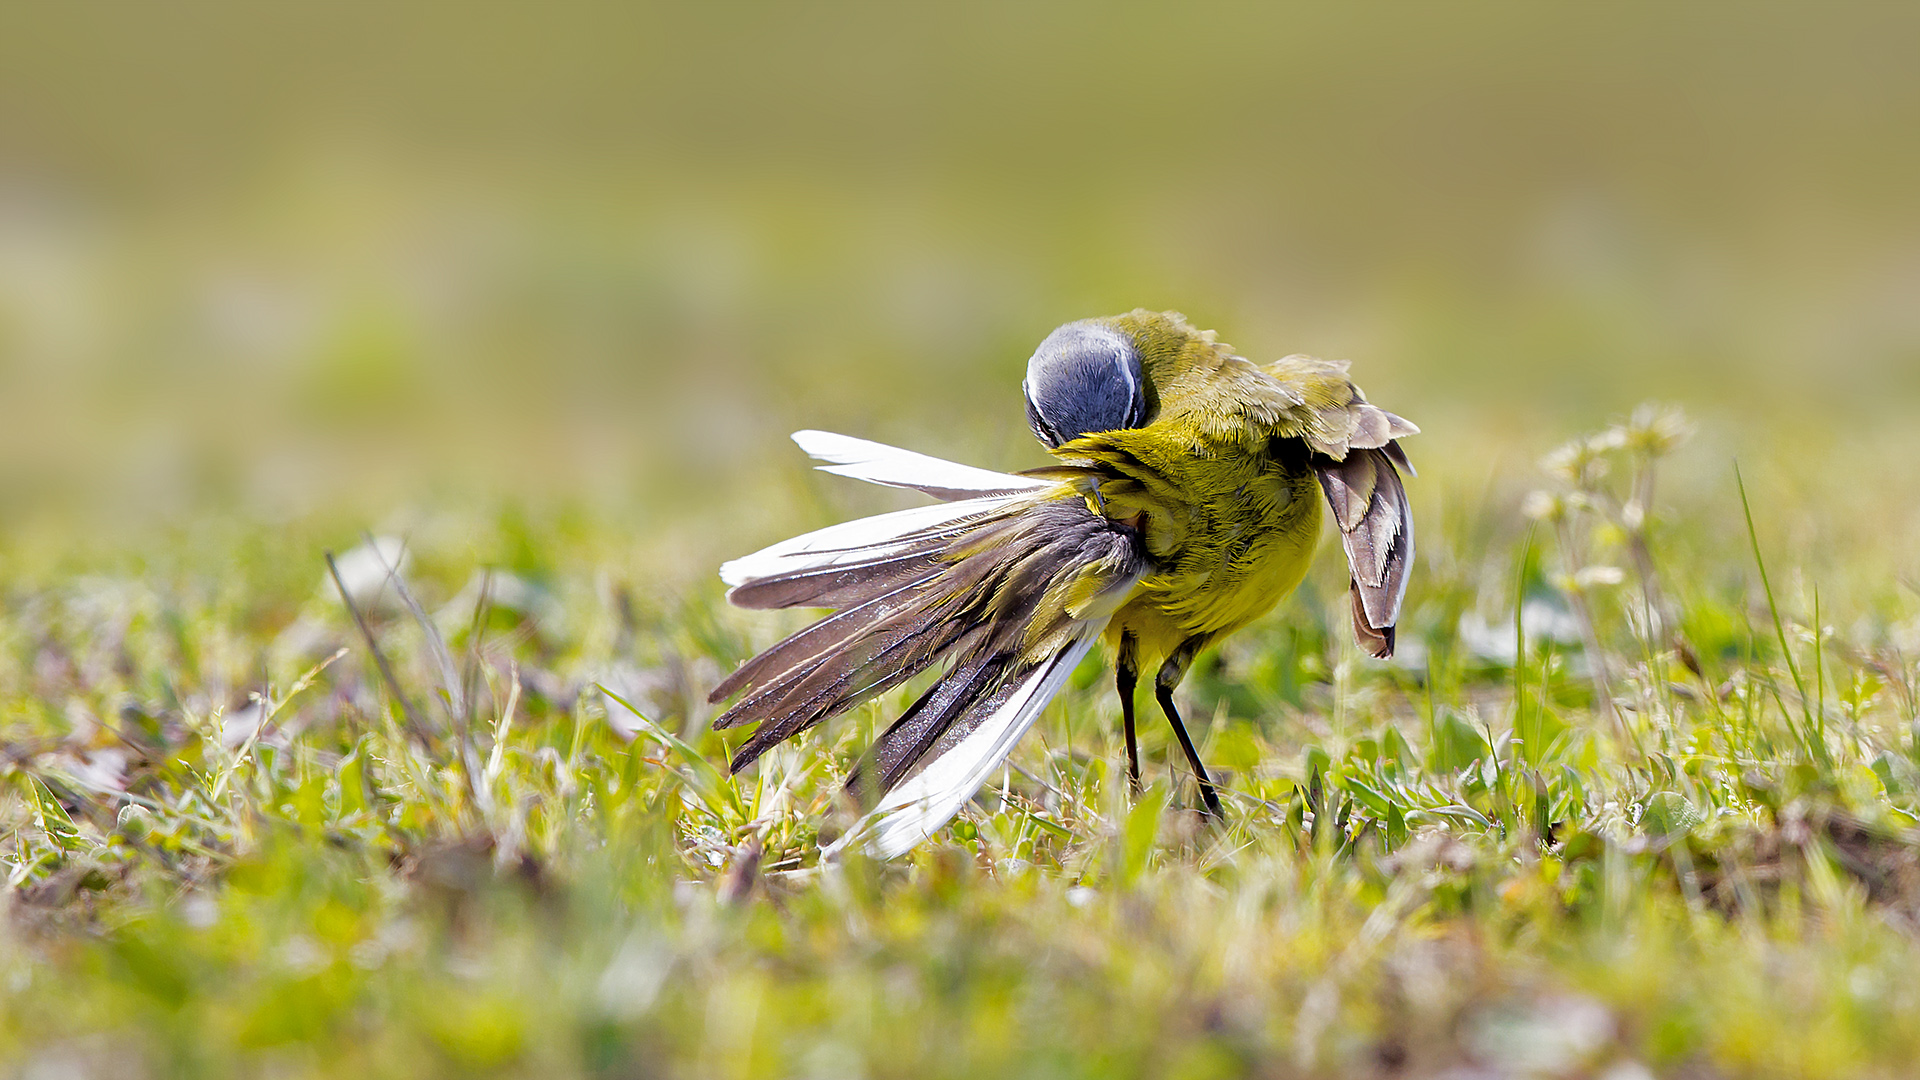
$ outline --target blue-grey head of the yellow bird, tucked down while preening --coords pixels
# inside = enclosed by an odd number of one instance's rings
[[[1140,350],[1114,327],[1087,319],[1046,334],[1027,361],[1027,423],[1048,448],[1096,430],[1146,423]]]

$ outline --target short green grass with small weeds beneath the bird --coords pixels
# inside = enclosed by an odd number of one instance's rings
[[[1876,575],[1895,517],[1880,548],[1828,546],[1851,561],[1766,561],[1811,550],[1768,517],[1793,503],[1749,502],[1686,436],[1645,409],[1574,440],[1524,511],[1423,480],[1392,665],[1346,642],[1323,559],[1185,690],[1225,822],[1154,724],[1127,798],[1091,661],[889,865],[816,851],[904,694],[726,776],[705,690],[781,626],[659,584],[591,507],[449,509],[399,575],[397,544],[319,517],[119,553],[15,534],[0,1059],[1908,1074],[1920,671],[1912,590]],[[1661,505],[1674,467],[1711,498]],[[1763,467],[1788,480],[1755,490],[1791,490],[1822,463]],[[330,573],[328,542],[351,548]]]

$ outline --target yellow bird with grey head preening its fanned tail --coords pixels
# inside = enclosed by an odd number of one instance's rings
[[[1114,655],[1127,774],[1140,778],[1133,698],[1154,696],[1200,784],[1219,796],[1173,703],[1194,657],[1306,577],[1321,494],[1346,548],[1354,636],[1394,651],[1413,565],[1400,469],[1411,423],[1371,405],[1346,361],[1258,367],[1173,311],[1068,323],[1027,361],[1027,421],[1056,463],[995,473],[803,430],[828,473],[914,488],[939,505],[849,521],[720,567],[741,607],[833,613],[749,659],[712,692],[743,698],[714,726],[768,748],[933,665],[943,675],[849,776],[877,805],[841,842],[893,857],[929,838],[1006,761],[1102,638]]]

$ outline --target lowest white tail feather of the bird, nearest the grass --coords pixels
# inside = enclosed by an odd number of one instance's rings
[[[1073,673],[1098,636],[1100,626],[1089,625],[1085,636],[1068,646],[1052,663],[1027,673],[1004,705],[918,776],[887,792],[887,798],[872,813],[847,830],[847,836],[824,847],[822,855],[833,857],[849,842],[866,838],[868,853],[893,859],[939,832],[1006,761],[1014,744],[1027,734],[1041,709],[1060,692],[1068,675]]]

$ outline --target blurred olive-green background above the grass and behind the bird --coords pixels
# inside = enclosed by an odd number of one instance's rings
[[[1647,398],[1718,480],[1872,454],[1920,404],[1916,40],[1910,4],[15,4],[0,513],[65,550],[586,498],[707,575],[783,528],[741,507],[795,427],[1037,463],[1033,344],[1135,306],[1354,357],[1469,486]]]

